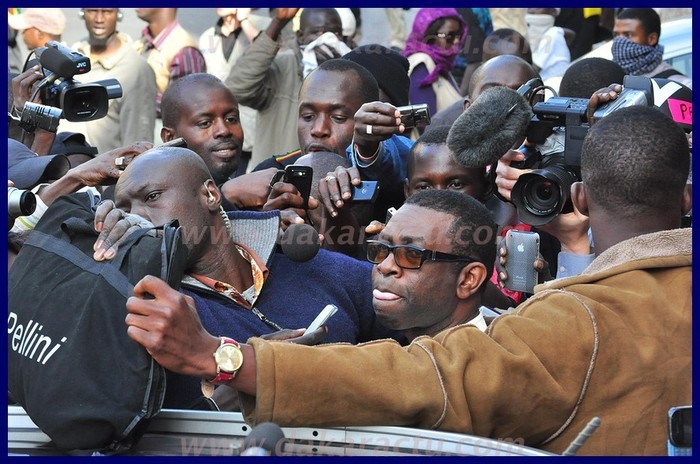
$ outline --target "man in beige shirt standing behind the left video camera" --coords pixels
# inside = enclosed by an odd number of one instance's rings
[[[146,60],[131,46],[132,39],[117,30],[122,13],[119,8],[83,8],[88,37],[73,49],[90,58],[90,72],[84,82],[115,78],[122,96],[109,100],[104,118],[83,122],[61,122],[61,130],[85,134],[99,153],[130,145],[153,142],[156,118],[156,78]]]

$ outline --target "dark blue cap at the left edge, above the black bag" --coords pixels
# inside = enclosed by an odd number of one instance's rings
[[[42,182],[56,180],[68,172],[64,155],[39,156],[22,142],[7,139],[7,178],[19,189],[30,189]]]

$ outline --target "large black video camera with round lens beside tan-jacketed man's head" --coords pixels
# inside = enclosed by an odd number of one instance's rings
[[[518,93],[531,101],[542,89],[542,82],[533,79]],[[680,99],[672,99],[677,93],[682,94]],[[593,120],[633,105],[657,106],[684,129],[692,130],[690,89],[667,79],[644,76],[625,76],[617,99],[598,108]],[[687,114],[681,116],[679,108],[683,105]],[[588,99],[558,96],[533,105],[534,115],[527,128],[529,145],[520,148],[525,159],[511,163],[518,169],[534,169],[522,174],[511,192],[520,221],[541,226],[560,213],[573,211],[571,185],[581,180],[581,148],[589,129],[587,109]]]

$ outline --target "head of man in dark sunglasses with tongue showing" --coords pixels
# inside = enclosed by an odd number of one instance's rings
[[[377,320],[408,340],[471,324],[493,272],[496,226],[475,198],[451,190],[414,193],[367,241]]]

